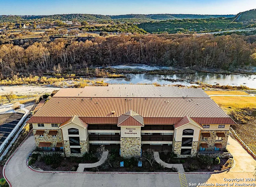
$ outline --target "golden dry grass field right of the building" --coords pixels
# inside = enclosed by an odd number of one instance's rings
[[[228,95],[223,92],[227,93],[227,91],[206,91],[208,95],[217,95],[217,93]],[[240,91],[228,91],[228,93],[242,95]],[[256,154],[256,97],[212,96],[211,98],[238,123],[232,125],[232,128]]]

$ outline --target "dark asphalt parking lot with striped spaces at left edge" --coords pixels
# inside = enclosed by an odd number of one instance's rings
[[[0,145],[4,142],[4,140],[8,137],[11,131],[15,128],[18,124],[20,119],[24,114],[21,113],[11,113],[10,115],[0,114],[0,118],[7,118],[1,125],[0,125]]]

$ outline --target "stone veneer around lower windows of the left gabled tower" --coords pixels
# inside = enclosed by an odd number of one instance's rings
[[[80,147],[81,147],[81,153],[71,153],[69,141],[65,140],[64,141],[65,156],[67,156],[67,157],[70,157],[70,156],[76,156],[76,157],[83,156],[86,152],[89,151],[89,138],[87,138],[87,140],[85,140],[85,141],[81,141],[80,140]]]

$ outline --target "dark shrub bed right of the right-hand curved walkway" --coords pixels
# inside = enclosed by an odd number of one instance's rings
[[[231,168],[233,160],[226,158],[210,158],[199,156],[191,158],[175,158],[172,152],[159,152],[161,160],[168,164],[182,164],[185,172],[214,172]]]

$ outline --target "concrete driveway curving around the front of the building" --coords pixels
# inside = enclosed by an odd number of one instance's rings
[[[189,183],[223,183],[223,177],[252,177],[255,160],[229,137],[228,149],[237,159],[236,166],[230,171],[220,174],[188,174]],[[30,136],[12,156],[4,174],[12,187],[180,187],[179,175],[176,173],[46,173],[35,172],[26,164],[27,155],[35,147],[33,135]],[[244,158],[244,159],[240,159]],[[240,159],[240,160],[239,160]]]

